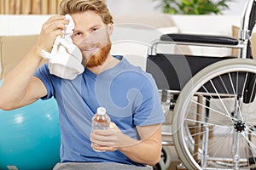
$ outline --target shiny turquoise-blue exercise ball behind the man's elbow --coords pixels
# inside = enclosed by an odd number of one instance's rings
[[[0,169],[52,169],[60,162],[59,124],[55,99],[0,110]]]

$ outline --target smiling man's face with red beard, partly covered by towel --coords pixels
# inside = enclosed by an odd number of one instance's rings
[[[101,16],[93,11],[72,14],[72,17],[75,23],[72,39],[83,54],[83,65],[89,68],[102,65],[111,48],[111,25],[104,24]]]

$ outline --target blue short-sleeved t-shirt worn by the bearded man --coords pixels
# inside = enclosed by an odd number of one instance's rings
[[[136,126],[165,121],[153,77],[126,59],[99,75],[84,70],[73,80],[49,73],[48,64],[35,76],[44,82],[49,99],[56,99],[61,126],[61,162],[119,162],[137,166],[119,150],[96,152],[90,147],[91,117],[99,106],[106,108],[111,121],[133,139]]]

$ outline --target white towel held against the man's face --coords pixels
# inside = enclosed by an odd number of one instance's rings
[[[63,31],[64,36],[55,38],[51,53],[42,49],[41,55],[44,59],[49,59],[50,74],[73,80],[84,72],[84,65],[82,65],[83,56],[80,49],[73,44],[71,38],[74,29],[73,19],[69,14],[66,14],[65,18],[69,20],[69,23]]]

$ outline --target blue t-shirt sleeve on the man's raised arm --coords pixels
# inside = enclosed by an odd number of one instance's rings
[[[54,88],[51,81],[51,75],[49,74],[48,64],[44,64],[38,68],[34,74],[35,77],[38,77],[47,89],[47,95],[41,99],[50,99],[54,95]]]

